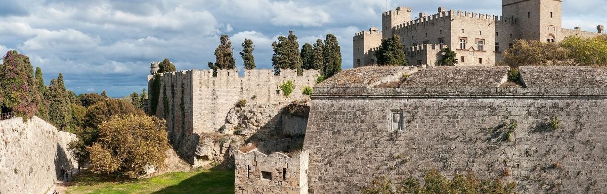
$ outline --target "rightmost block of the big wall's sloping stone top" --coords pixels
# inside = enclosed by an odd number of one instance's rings
[[[527,88],[605,88],[607,68],[591,66],[521,66]]]

